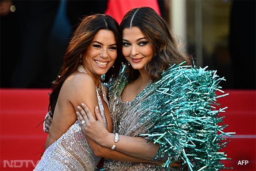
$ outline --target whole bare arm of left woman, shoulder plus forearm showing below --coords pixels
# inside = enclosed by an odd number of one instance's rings
[[[54,117],[52,121],[52,125],[50,126],[49,135],[57,132],[57,129],[63,129],[63,132],[66,131],[72,123],[74,123],[77,119],[75,115],[75,111],[77,111],[76,106],[80,104],[81,101],[86,101],[88,108],[94,111],[94,106],[98,106],[97,94],[93,80],[83,73],[73,74],[71,77],[65,81],[63,87],[61,89],[58,104],[56,105],[54,111]],[[59,106],[58,106],[59,105]],[[70,115],[70,117],[68,116]],[[91,115],[96,119],[95,113]],[[74,117],[74,118],[73,118]],[[72,119],[72,121],[69,121]],[[54,123],[55,121],[55,123]],[[61,125],[60,125],[61,121]],[[51,122],[51,121],[50,121]],[[67,126],[67,122],[72,122]],[[48,122],[47,122],[48,123]],[[56,128],[56,126],[58,126]],[[63,128],[66,126],[67,128]],[[108,132],[111,131],[112,125],[108,125],[108,129],[106,130],[105,125],[104,129]],[[60,132],[60,131],[59,131]],[[61,135],[62,133],[58,134]],[[49,136],[48,136],[49,137]],[[52,136],[53,137],[53,136]],[[57,138],[54,136],[51,141],[49,141],[48,145],[54,142]],[[86,136],[91,148],[93,149],[95,155],[101,157],[108,157],[110,159],[119,160],[119,161],[132,161],[132,162],[151,162],[150,160],[140,159],[138,157],[129,156],[127,154],[112,151],[109,148],[102,147],[97,142],[91,140],[88,136]]]

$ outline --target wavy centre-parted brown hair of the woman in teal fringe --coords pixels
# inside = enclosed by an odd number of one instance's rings
[[[171,33],[168,24],[154,9],[150,7],[134,8],[128,11],[120,23],[120,33],[123,36],[124,28],[139,27],[147,39],[155,47],[155,54],[145,66],[153,81],[161,79],[161,73],[172,64],[187,61],[191,65],[191,57],[178,49],[176,37]],[[139,76],[139,71],[128,65],[127,72],[131,81]]]

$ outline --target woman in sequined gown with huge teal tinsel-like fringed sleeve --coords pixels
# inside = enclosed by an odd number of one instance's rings
[[[84,134],[103,147],[154,163],[105,159],[104,168],[223,168],[219,161],[227,158],[218,153],[221,118],[219,110],[212,110],[218,98],[215,91],[223,78],[215,71],[194,66],[192,58],[179,49],[167,23],[152,8],[127,12],[120,33],[125,66],[109,86],[114,133],[104,128],[97,109],[98,120],[92,117],[86,103],[78,106],[77,115]],[[162,166],[155,164],[157,161]]]

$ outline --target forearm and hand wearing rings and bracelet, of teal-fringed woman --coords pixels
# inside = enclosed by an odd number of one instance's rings
[[[146,160],[152,160],[155,157],[159,149],[158,144],[154,144],[153,142],[147,143],[147,140],[143,137],[131,137],[125,135],[119,135],[118,142],[114,142],[115,134],[109,133],[104,128],[104,122],[99,111],[95,108],[95,114],[98,119],[95,120],[90,109],[83,103],[81,106],[84,110],[80,106],[78,106],[78,110],[82,115],[79,112],[77,112],[77,115],[80,121],[86,121],[81,127],[84,134],[91,139],[109,149],[112,148],[113,145],[116,145],[116,151],[120,151],[130,156]]]

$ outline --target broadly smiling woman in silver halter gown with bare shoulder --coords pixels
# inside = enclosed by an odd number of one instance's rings
[[[81,21],[69,43],[59,76],[53,82],[49,113],[54,117],[44,155],[35,170],[95,169],[101,157],[95,156],[90,146],[94,142],[83,135],[76,106],[81,101],[88,103],[90,109],[99,106],[105,128],[112,131],[101,76],[105,74],[105,82],[116,77],[120,69],[116,58],[120,53],[121,36],[111,16],[96,14]]]

